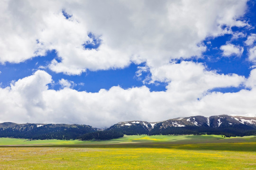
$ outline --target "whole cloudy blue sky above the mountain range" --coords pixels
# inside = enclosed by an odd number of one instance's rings
[[[256,0],[1,0],[0,122],[256,116]]]

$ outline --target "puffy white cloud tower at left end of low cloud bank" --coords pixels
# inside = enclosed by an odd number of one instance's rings
[[[42,110],[46,108],[42,93],[51,81],[49,74],[38,70],[32,76],[12,82],[9,87],[0,88],[1,117],[25,123],[26,120],[41,117]]]

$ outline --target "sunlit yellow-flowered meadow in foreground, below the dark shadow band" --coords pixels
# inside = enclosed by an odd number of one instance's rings
[[[1,170],[255,170],[255,152],[166,148],[0,148]]]

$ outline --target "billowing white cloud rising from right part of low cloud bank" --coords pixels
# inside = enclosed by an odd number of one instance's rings
[[[189,98],[200,98],[208,90],[217,87],[238,87],[245,81],[243,76],[236,74],[217,74],[215,71],[207,71],[198,63],[182,61],[180,64],[170,63],[160,68],[151,70],[152,81],[170,82],[168,91],[176,95],[187,93]]]

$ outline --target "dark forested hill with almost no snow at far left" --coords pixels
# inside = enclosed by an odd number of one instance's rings
[[[0,137],[70,140],[95,131],[97,128],[88,125],[0,123]]]

